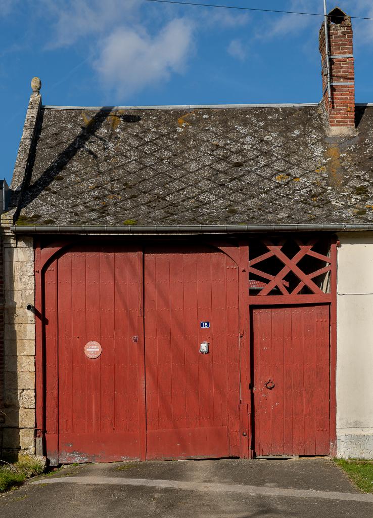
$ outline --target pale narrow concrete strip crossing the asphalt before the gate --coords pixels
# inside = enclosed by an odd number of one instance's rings
[[[130,485],[156,487],[186,491],[211,491],[216,493],[243,493],[247,495],[280,496],[293,498],[321,498],[326,500],[349,500],[373,503],[373,494],[337,493],[333,491],[312,491],[282,487],[249,486],[241,484],[218,484],[205,482],[184,482],[179,480],[127,479],[117,477],[56,477],[31,482],[37,484],[83,484],[83,485]]]

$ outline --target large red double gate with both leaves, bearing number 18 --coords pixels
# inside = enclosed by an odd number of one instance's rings
[[[52,462],[240,456],[238,267],[229,255],[70,248],[44,272],[44,307]],[[90,341],[101,346],[96,358],[85,354]]]

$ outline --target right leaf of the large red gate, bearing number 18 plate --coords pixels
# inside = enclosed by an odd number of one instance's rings
[[[145,249],[144,313],[146,458],[239,456],[237,265],[209,247]]]

